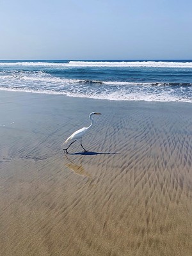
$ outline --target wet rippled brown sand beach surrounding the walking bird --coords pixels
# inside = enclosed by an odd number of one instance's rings
[[[1,255],[192,255],[191,104],[2,96]]]

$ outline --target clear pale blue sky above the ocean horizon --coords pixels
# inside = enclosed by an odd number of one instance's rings
[[[0,60],[192,59],[191,0],[0,0]]]

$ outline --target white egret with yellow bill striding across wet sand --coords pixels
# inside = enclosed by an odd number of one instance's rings
[[[70,140],[74,140],[74,141],[72,142],[72,143],[74,143],[76,140],[81,139],[81,138],[84,136],[84,134],[92,127],[92,125],[93,125],[92,116],[93,116],[93,115],[101,115],[101,113],[95,113],[95,112],[90,113],[89,118],[90,118],[90,120],[92,121],[92,124],[90,124],[89,127],[83,127],[83,128],[81,128],[81,129],[79,129],[78,131],[74,132],[73,134],[71,134],[71,136],[69,136],[69,137],[67,138],[67,140],[62,144],[62,146],[63,146],[65,143],[67,143],[68,141],[70,141]],[[72,145],[72,143],[70,143],[70,145]],[[70,147],[70,145],[69,145],[67,148],[63,148],[63,150],[64,150],[64,152],[65,152],[66,154],[68,154],[68,151],[67,151],[67,150],[68,150],[68,148]],[[81,142],[81,147],[83,147],[82,142]],[[83,149],[84,149],[84,147],[83,147]],[[87,150],[84,149],[84,152],[87,152]]]

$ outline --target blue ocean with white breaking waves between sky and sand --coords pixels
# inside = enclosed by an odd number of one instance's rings
[[[192,102],[192,60],[0,61],[0,90]]]

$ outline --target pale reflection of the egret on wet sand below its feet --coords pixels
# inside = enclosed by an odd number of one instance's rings
[[[83,156],[81,156],[79,159],[72,160],[72,157],[70,159],[70,157],[65,155],[65,166],[67,166],[67,168],[72,170],[74,173],[84,177],[88,177],[91,180],[92,176],[90,175],[90,173],[86,172],[82,166],[82,157]],[[80,163],[75,163],[75,161]]]

